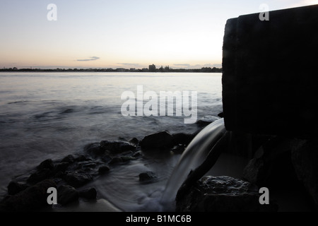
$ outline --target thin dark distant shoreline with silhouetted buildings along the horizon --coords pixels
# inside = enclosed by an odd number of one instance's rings
[[[152,72],[152,73],[167,73],[167,72],[189,72],[189,73],[222,73],[222,68],[208,67],[201,69],[0,69],[0,72]]]

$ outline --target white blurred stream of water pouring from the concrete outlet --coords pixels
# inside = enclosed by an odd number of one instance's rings
[[[213,145],[223,136],[225,131],[224,120],[218,119],[206,126],[189,143],[175,166],[161,198],[161,203],[168,208],[167,210],[173,210],[177,191],[190,170],[195,169],[205,160]]]

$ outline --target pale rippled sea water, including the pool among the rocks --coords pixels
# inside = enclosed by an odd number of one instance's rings
[[[143,92],[158,94],[196,91],[198,119],[222,112],[220,73],[0,73],[1,197],[13,176],[47,158],[79,153],[88,143],[141,139],[163,130],[192,133],[199,128],[184,124],[184,117],[124,117],[121,95],[124,91],[136,95],[137,85],[143,85]],[[93,183],[105,191],[100,196],[120,208],[149,210],[148,199],[159,196],[158,187],[176,162],[177,156],[149,157],[148,162],[134,161]],[[148,170],[161,172],[160,186],[136,183],[138,174]],[[122,195],[127,184],[134,190],[128,197]]]

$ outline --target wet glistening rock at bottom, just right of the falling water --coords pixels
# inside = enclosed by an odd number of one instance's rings
[[[184,198],[176,203],[177,212],[277,211],[278,206],[259,203],[259,191],[249,182],[232,177],[202,177]]]

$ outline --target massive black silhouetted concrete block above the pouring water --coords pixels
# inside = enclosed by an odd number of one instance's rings
[[[318,133],[318,5],[229,19],[223,40],[228,131]]]

